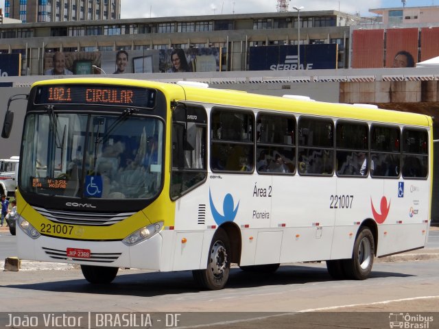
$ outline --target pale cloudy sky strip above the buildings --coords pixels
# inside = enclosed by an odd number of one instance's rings
[[[277,0],[121,0],[121,18],[149,18],[167,16],[196,16],[213,14],[248,14],[252,12],[276,12]],[[293,6],[303,6],[304,11],[339,10],[349,14],[374,16],[371,8],[402,7],[401,0],[290,0]],[[407,0],[406,7],[439,5],[439,0]]]

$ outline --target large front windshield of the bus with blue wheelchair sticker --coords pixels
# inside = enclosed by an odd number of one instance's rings
[[[122,114],[73,114],[48,110],[25,119],[25,193],[150,199],[163,173],[163,121]]]

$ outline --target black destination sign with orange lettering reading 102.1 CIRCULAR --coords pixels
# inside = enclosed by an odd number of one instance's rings
[[[91,104],[154,108],[156,90],[126,86],[38,86],[35,104]]]

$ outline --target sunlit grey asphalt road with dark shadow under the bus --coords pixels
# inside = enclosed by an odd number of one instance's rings
[[[431,230],[427,249],[412,255],[436,254],[438,238],[439,230]],[[14,239],[1,232],[2,253],[14,250]],[[0,272],[0,326],[21,311],[147,314],[151,328],[210,329],[390,328],[392,319],[409,314],[414,320],[402,328],[439,328],[439,259],[414,259],[381,258],[365,281],[331,280],[324,263],[287,264],[272,275],[233,268],[222,291],[200,291],[190,271],[121,269],[113,284],[94,286],[78,267],[24,261],[18,272]],[[168,315],[178,324],[166,327]],[[428,327],[418,321],[424,316],[434,319]]]

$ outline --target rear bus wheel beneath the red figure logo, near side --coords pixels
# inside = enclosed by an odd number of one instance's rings
[[[355,239],[351,259],[343,261],[344,273],[353,280],[365,280],[372,271],[375,256],[375,242],[373,234],[366,226],[360,228]]]

